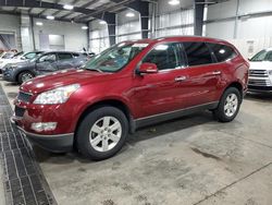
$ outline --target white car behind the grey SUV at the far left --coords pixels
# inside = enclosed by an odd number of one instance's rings
[[[37,55],[42,53],[41,51],[32,51],[32,52],[20,52],[14,55],[12,58],[7,58],[7,59],[0,59],[0,72],[2,69],[9,64],[9,63],[17,63],[17,62],[24,62],[30,59],[34,59]]]

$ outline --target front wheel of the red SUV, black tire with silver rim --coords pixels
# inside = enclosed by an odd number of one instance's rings
[[[112,126],[113,124],[115,125]],[[81,122],[76,133],[76,147],[89,159],[103,160],[114,156],[123,147],[127,135],[128,121],[125,114],[114,107],[100,107]]]

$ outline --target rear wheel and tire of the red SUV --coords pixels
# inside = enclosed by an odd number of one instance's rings
[[[242,104],[242,96],[236,87],[228,87],[213,110],[213,117],[220,122],[231,122],[237,116]]]

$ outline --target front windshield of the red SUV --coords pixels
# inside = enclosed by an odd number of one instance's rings
[[[83,69],[100,72],[118,72],[134,59],[148,44],[119,44],[88,61]]]

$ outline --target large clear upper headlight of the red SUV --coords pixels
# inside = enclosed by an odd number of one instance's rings
[[[34,100],[34,104],[41,104],[41,105],[64,104],[69,99],[69,97],[79,87],[81,86],[78,84],[73,84],[41,93]]]

